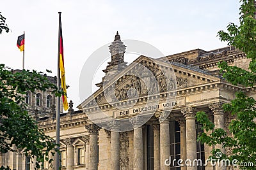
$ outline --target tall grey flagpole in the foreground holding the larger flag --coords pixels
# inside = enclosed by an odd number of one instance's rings
[[[58,76],[57,86],[60,90],[60,27],[61,27],[61,12],[59,12],[59,36],[58,36]],[[56,108],[56,144],[60,145],[60,96],[57,97],[57,108]],[[60,146],[56,146],[60,150]],[[60,154],[56,153],[56,170],[60,169]]]

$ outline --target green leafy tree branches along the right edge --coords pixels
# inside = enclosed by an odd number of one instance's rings
[[[248,70],[236,66],[228,66],[227,62],[220,62],[220,72],[223,78],[233,85],[244,85],[253,87],[256,82],[256,20],[254,0],[241,0],[239,8],[240,25],[230,23],[227,32],[219,31],[218,36],[221,41],[227,41],[228,45],[235,46],[246,54],[250,59]],[[233,137],[228,137],[223,129],[214,129],[214,124],[209,120],[203,111],[196,113],[196,120],[203,124],[202,129],[213,131],[209,136],[206,133],[200,134],[198,140],[207,145],[222,144],[223,148],[233,148],[232,155],[223,155],[220,159],[238,160],[237,165],[243,162],[252,162],[256,165],[256,101],[253,97],[248,97],[244,92],[236,92],[236,99],[231,103],[223,104],[223,110],[236,117],[232,120],[228,129]],[[212,157],[220,150],[212,150]],[[253,166],[243,166],[241,169],[255,169]]]

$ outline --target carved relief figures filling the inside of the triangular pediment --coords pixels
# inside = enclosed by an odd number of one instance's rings
[[[140,78],[137,75],[140,75]],[[166,92],[177,88],[187,87],[187,78],[168,78],[165,71],[159,69],[158,66],[146,64],[136,71],[135,75],[128,76],[127,83],[116,88],[115,94],[111,96],[112,101],[122,101],[133,97],[146,96],[148,94],[156,94],[157,92]],[[154,77],[153,77],[153,76]],[[115,96],[114,96],[115,95]]]

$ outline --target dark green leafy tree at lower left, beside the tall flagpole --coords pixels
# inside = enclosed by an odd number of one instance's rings
[[[26,91],[45,91],[52,89],[57,96],[56,85],[51,83],[42,73],[23,69],[14,73],[8,67],[0,64],[0,153],[15,152],[24,149],[25,155],[36,157],[36,167],[39,168],[44,159],[49,159],[52,150],[55,152],[55,142],[38,128],[34,118],[29,116],[27,104],[24,103]],[[13,149],[13,145],[16,147]],[[1,167],[0,169],[9,169]]]

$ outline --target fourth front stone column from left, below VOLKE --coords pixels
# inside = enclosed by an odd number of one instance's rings
[[[156,118],[160,124],[160,167],[161,170],[170,169],[164,164],[166,159],[170,158],[170,113],[159,112],[156,113]]]

